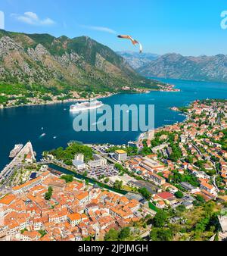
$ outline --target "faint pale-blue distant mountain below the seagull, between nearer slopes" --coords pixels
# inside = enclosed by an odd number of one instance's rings
[[[145,64],[149,64],[159,57],[159,55],[152,53],[140,54],[138,52],[117,52],[117,54],[125,58],[129,65],[134,69],[145,66]]]

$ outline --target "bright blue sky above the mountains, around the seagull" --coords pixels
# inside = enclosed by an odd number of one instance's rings
[[[116,51],[135,51],[117,39],[129,34],[145,52],[182,55],[227,54],[220,26],[227,0],[1,0],[5,30],[90,36]],[[227,23],[227,22],[226,22]]]

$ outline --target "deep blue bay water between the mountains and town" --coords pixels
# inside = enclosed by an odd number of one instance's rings
[[[161,79],[159,79],[161,80]],[[165,80],[175,84],[181,92],[150,92],[143,94],[120,94],[104,98],[110,105],[154,105],[155,127],[181,122],[185,117],[171,111],[173,106],[185,106],[191,101],[204,98],[227,98],[227,84],[184,80]],[[42,151],[66,146],[70,140],[83,143],[127,143],[138,138],[140,132],[79,132],[73,130],[74,115],[69,108],[72,103],[24,106],[0,110],[0,170],[10,161],[8,154],[14,144],[31,141],[41,157]],[[43,129],[42,129],[43,127]],[[45,136],[41,136],[45,133]]]

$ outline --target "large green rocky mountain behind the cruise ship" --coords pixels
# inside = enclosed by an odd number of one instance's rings
[[[0,81],[90,92],[151,83],[120,55],[87,36],[56,38],[5,30],[0,30]]]

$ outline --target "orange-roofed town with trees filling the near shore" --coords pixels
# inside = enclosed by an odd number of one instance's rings
[[[186,120],[128,145],[70,142],[38,162],[28,142],[0,174],[1,239],[227,239],[226,101],[173,111]]]

